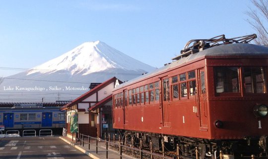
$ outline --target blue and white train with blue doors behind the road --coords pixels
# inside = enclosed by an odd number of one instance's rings
[[[59,106],[43,104],[14,104],[0,107],[0,126],[4,130],[64,128],[66,113]]]

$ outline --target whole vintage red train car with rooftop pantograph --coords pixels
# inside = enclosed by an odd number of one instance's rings
[[[191,40],[173,62],[117,86],[113,126],[181,158],[268,159],[268,47],[255,34]],[[190,46],[191,45],[191,46]]]

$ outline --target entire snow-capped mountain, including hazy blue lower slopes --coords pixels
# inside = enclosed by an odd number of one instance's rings
[[[5,95],[0,96],[0,102],[73,100],[88,91],[92,82],[101,83],[112,77],[126,81],[155,69],[104,42],[86,42],[55,59],[4,79],[0,91]]]

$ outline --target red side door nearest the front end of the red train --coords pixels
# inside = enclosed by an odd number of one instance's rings
[[[207,131],[208,119],[207,119],[207,93],[206,93],[206,81],[205,70],[200,69],[199,73],[199,117],[200,117],[200,130]]]

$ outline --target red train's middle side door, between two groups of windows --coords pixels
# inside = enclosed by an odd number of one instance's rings
[[[162,114],[163,114],[163,126],[170,127],[169,122],[169,79],[168,77],[162,78]]]

